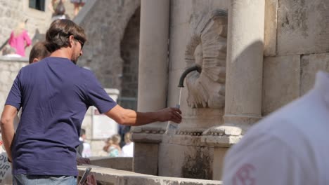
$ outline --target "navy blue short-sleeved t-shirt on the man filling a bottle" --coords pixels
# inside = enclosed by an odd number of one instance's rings
[[[87,109],[93,105],[104,113],[116,102],[88,69],[67,58],[46,57],[20,69],[6,104],[22,107],[13,174],[76,176],[75,148]]]

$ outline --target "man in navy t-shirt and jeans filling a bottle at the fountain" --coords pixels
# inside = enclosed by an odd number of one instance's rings
[[[90,70],[76,65],[85,41],[84,30],[74,22],[55,20],[46,32],[50,57],[19,71],[1,116],[13,184],[77,184],[76,147],[91,105],[122,125],[181,122],[176,108],[142,113],[114,102]],[[14,133],[13,118],[20,107]]]

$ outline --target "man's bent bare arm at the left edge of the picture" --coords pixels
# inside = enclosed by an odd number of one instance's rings
[[[11,105],[5,105],[4,111],[1,115],[1,135],[9,160],[12,160],[11,144],[15,135],[13,121],[15,116],[17,115],[17,112],[18,111],[16,107],[13,107]]]

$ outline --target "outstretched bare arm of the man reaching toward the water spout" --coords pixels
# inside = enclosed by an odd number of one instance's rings
[[[106,112],[105,115],[117,123],[130,126],[146,125],[157,121],[181,123],[181,110],[174,107],[168,107],[154,112],[138,112],[116,105],[110,111]]]

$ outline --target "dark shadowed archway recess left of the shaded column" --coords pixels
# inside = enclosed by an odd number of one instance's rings
[[[123,62],[120,104],[124,108],[137,110],[138,54],[141,8],[131,16],[120,43]]]

